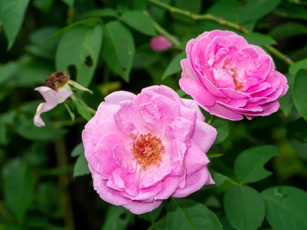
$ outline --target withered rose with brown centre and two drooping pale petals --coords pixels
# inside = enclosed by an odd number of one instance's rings
[[[37,127],[45,126],[45,122],[40,118],[42,112],[53,109],[60,103],[63,103],[72,95],[70,87],[66,85],[68,75],[63,72],[56,72],[50,75],[46,80],[46,85],[35,88],[39,91],[46,102],[40,103],[34,116],[34,125]]]

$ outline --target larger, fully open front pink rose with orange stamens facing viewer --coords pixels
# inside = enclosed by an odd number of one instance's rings
[[[82,132],[94,189],[135,214],[214,181],[206,152],[216,130],[198,105],[166,86],[108,95]]]

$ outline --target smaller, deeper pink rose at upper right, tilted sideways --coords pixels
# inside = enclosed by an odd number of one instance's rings
[[[214,30],[186,47],[181,88],[205,110],[229,120],[267,116],[279,108],[287,78],[264,50],[231,31]]]

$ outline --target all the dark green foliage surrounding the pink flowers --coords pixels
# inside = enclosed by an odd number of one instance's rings
[[[307,229],[306,21],[305,0],[0,0],[0,229]],[[202,110],[218,132],[207,153],[215,185],[142,215],[104,202],[81,143],[91,113],[68,100],[35,127],[33,89],[66,71],[93,91],[78,93],[94,109],[150,85],[191,99],[180,60],[191,38],[215,29],[273,57],[290,86],[280,109],[251,121]],[[158,35],[172,48],[153,51]]]

